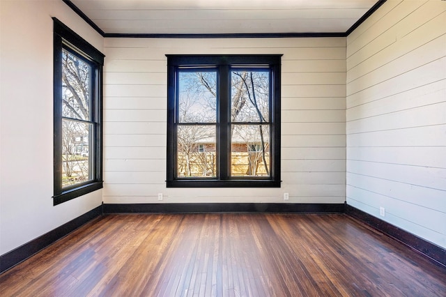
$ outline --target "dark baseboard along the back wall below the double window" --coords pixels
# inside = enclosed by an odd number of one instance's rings
[[[103,204],[104,213],[344,213],[344,204],[174,203]]]

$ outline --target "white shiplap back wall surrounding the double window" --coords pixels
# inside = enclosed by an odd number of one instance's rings
[[[282,188],[166,188],[166,54],[284,54]],[[104,203],[344,203],[346,38],[105,38]]]

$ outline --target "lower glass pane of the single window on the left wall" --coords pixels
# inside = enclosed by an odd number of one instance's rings
[[[90,181],[92,124],[62,120],[62,187]]]

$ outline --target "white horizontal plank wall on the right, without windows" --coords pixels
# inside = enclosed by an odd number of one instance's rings
[[[346,61],[347,204],[445,248],[446,1],[387,1]]]

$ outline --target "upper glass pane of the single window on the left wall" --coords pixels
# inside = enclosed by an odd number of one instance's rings
[[[62,116],[90,120],[90,65],[62,50]]]

